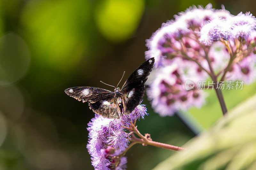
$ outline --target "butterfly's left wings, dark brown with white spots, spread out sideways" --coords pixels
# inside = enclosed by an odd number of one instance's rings
[[[115,93],[96,87],[72,87],[65,90],[68,96],[88,102],[94,113],[108,118],[119,118],[120,112],[114,100]],[[116,116],[117,114],[117,116]]]

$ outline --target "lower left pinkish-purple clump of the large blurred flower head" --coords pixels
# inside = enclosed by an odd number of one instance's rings
[[[152,107],[160,116],[172,116],[178,110],[202,106],[205,101],[204,92],[185,89],[186,80],[196,83],[208,77],[207,74],[196,72],[198,67],[194,62],[180,58],[173,59],[169,66],[157,69],[155,80],[147,89],[147,95]]]

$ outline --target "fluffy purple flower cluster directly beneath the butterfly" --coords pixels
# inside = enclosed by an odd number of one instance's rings
[[[126,168],[127,158],[119,154],[128,147],[130,133],[127,128],[135,119],[144,119],[145,105],[138,105],[131,114],[120,119],[108,119],[96,115],[88,123],[89,140],[87,149],[92,156],[92,166],[97,170],[122,170]]]

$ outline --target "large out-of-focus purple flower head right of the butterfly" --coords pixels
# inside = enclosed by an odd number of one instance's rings
[[[215,74],[229,81],[255,81],[256,20],[250,13],[234,16],[212,4],[193,6],[163,23],[146,46],[145,58],[155,57],[147,95],[161,116],[202,106],[204,91],[186,90],[187,80],[196,85]]]

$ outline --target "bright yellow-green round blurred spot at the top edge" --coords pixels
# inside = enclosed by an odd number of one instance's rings
[[[95,21],[108,40],[124,41],[137,29],[144,8],[144,0],[102,0],[96,5]]]

